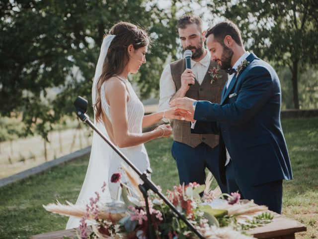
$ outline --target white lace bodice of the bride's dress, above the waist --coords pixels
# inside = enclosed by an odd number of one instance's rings
[[[129,94],[129,101],[127,102],[128,130],[132,133],[142,133],[142,122],[145,113],[144,105],[139,100],[130,82],[122,77],[117,77],[125,83]],[[108,105],[105,98],[104,84],[105,82],[102,84],[100,89],[101,106],[106,114],[106,117],[109,119],[110,122],[112,122],[110,115],[110,106]]]

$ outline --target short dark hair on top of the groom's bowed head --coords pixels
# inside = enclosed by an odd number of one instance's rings
[[[214,27],[207,30],[205,37],[208,37],[211,34],[213,34],[214,39],[222,45],[224,44],[224,38],[227,35],[230,35],[239,46],[243,46],[239,28],[233,21],[227,20],[219,22]]]

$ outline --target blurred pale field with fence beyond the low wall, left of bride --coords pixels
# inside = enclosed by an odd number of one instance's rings
[[[157,110],[156,104],[145,106],[146,114]],[[23,137],[23,127],[20,119],[0,119],[0,179],[91,145],[92,129],[77,119],[54,125],[48,141],[39,134]]]

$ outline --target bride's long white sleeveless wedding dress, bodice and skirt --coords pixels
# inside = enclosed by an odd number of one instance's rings
[[[145,113],[144,106],[133,90],[130,82],[124,78],[118,78],[125,83],[129,94],[129,101],[127,102],[128,130],[132,133],[142,133],[142,121]],[[104,84],[105,83],[103,83],[100,92],[101,105],[106,117],[110,122],[112,122],[110,106],[107,104],[105,98]],[[107,132],[104,132],[104,134],[107,135]],[[93,135],[93,137],[99,137],[99,135]],[[108,147],[105,151],[107,155],[96,155],[96,152],[101,151],[96,147],[100,147],[100,149],[102,149],[102,147]],[[148,154],[144,144],[119,149],[141,172],[144,172],[148,167],[150,167]],[[105,160],[103,160],[103,157],[105,157]],[[124,160],[120,158],[120,156],[112,150],[106,142],[99,141],[99,145],[97,145],[97,143],[94,145],[93,143],[86,176],[76,204],[88,204],[89,198],[95,197],[96,191],[100,194],[101,203],[116,200],[117,190],[120,185],[119,183],[111,183],[110,178],[113,173],[119,172],[121,163],[124,163]],[[125,180],[126,179],[122,177],[121,181],[125,182]],[[106,182],[107,184],[105,192],[101,191],[103,182]],[[79,218],[70,217],[66,229],[79,227],[79,220]]]

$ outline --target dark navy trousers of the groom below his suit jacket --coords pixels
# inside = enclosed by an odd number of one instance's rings
[[[269,210],[282,213],[283,180],[256,186],[246,185],[235,177],[235,165],[232,160],[226,166],[226,178],[229,193],[238,191],[241,199],[253,199],[258,205],[266,205]]]

